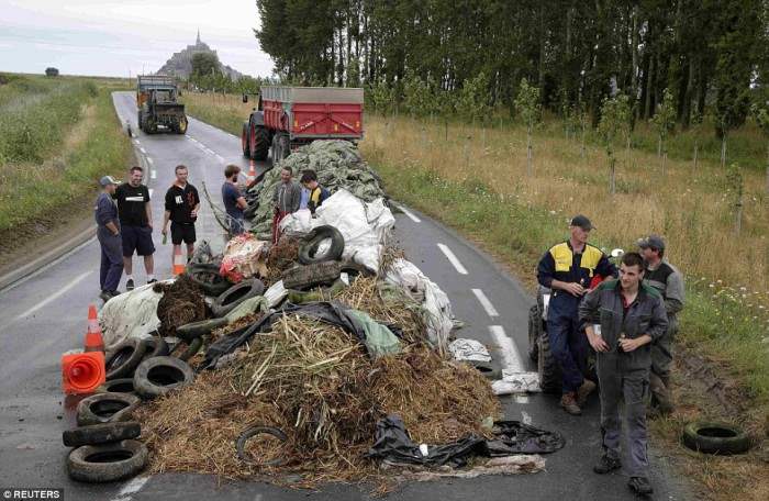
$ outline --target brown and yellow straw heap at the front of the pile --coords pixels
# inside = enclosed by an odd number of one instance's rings
[[[376,422],[402,416],[416,442],[439,444],[499,415],[490,383],[473,368],[441,358],[419,342],[420,315],[405,299],[383,293],[375,279],[358,279],[337,300],[404,331],[404,349],[371,360],[358,339],[338,327],[285,315],[259,334],[230,367],[202,374],[194,385],[143,409],[151,471],[198,471],[224,478],[267,477],[285,483],[379,479],[363,458]],[[250,425],[276,426],[286,444],[254,441],[256,457],[281,456],[280,467],[238,459],[234,442]]]

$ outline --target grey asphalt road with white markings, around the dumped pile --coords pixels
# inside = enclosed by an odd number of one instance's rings
[[[163,196],[174,179],[174,167],[189,167],[190,182],[209,187],[221,205],[223,167],[234,163],[247,169],[239,154],[239,138],[197,120],[187,135],[145,135],[136,127],[133,94],[114,94],[121,121],[132,123],[137,157],[147,167],[153,190],[155,267],[158,278],[170,276],[170,245],[161,246],[159,227]],[[258,164],[257,169],[266,168]],[[258,170],[257,170],[258,171]],[[202,196],[202,190],[201,190]],[[203,202],[198,224],[199,240],[223,244],[223,232]],[[502,368],[536,370],[525,358],[526,322],[533,299],[521,285],[470,243],[441,224],[405,209],[397,214],[395,238],[408,257],[449,296],[454,312],[465,322],[460,337],[489,346],[494,364]],[[86,331],[89,302],[98,300],[99,246],[90,241],[36,276],[0,291],[0,488],[64,488],[67,500],[298,500],[368,499],[365,489],[332,485],[321,491],[280,489],[259,482],[219,485],[202,475],[165,474],[137,477],[126,482],[89,486],[74,482],[65,471],[68,452],[62,431],[74,425],[75,399],[60,391],[60,354],[78,347]],[[145,279],[141,263],[134,277]],[[464,500],[629,500],[634,496],[622,474],[598,476],[592,464],[600,456],[599,403],[593,398],[581,417],[566,415],[551,396],[503,398],[506,419],[522,420],[567,437],[567,446],[546,456],[546,471],[511,477],[421,482],[404,486],[389,496],[394,500],[441,498]],[[653,447],[653,499],[693,499],[682,479],[672,474],[666,457]]]

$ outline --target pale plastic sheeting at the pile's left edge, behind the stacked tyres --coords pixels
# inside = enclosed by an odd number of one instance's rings
[[[174,280],[165,280],[158,283],[172,282]],[[163,292],[155,292],[153,286],[154,283],[137,287],[107,301],[99,312],[105,348],[130,337],[142,337],[160,326],[157,303],[163,298]]]

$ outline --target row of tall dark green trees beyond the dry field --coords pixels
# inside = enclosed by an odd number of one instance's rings
[[[675,122],[710,112],[722,135],[745,122],[769,78],[769,0],[256,3],[256,37],[281,79],[363,85],[377,105],[417,113],[456,110],[478,91],[481,110],[514,112],[525,78],[540,105],[583,109],[593,126],[608,97],[626,96],[635,122],[667,92]]]

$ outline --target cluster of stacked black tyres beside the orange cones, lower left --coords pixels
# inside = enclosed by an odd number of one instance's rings
[[[159,336],[130,338],[105,354],[107,382],[77,407],[77,427],[63,433],[74,447],[67,457],[69,476],[82,482],[109,482],[133,477],[147,463],[147,448],[136,438],[140,423],[132,421],[142,400],[163,396],[192,382],[194,374],[174,356]]]

